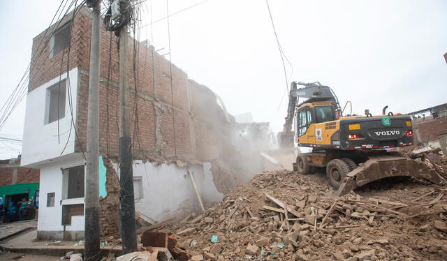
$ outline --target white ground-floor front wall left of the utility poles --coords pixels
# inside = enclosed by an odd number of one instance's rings
[[[63,231],[62,205],[84,203],[84,198],[62,200],[63,175],[62,168],[85,164],[82,154],[71,154],[59,158],[52,163],[41,165],[41,180],[39,193],[38,231]],[[55,193],[54,207],[47,207],[47,193]],[[73,216],[71,225],[66,230],[84,230],[84,216]]]

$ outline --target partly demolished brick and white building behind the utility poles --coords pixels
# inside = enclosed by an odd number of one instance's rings
[[[84,236],[91,12],[66,15],[33,40],[22,166],[41,171],[38,239]],[[71,41],[66,39],[70,38]],[[131,38],[135,209],[149,223],[221,200],[242,182],[234,118],[214,92]],[[119,228],[117,37],[101,29],[101,232]],[[170,74],[172,71],[172,75]],[[171,85],[172,84],[172,85]],[[191,175],[189,175],[190,170]],[[196,181],[196,189],[191,184]]]

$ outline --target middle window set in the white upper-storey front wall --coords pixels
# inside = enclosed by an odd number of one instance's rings
[[[66,79],[47,89],[47,114],[45,124],[65,117]]]

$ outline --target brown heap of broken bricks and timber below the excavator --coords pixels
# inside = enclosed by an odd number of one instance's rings
[[[447,260],[447,189],[407,180],[343,197],[323,170],[256,174],[173,232],[191,260]]]

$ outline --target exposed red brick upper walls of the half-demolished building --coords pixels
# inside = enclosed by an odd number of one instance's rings
[[[101,28],[100,149],[102,154],[117,158],[118,38],[114,33]],[[50,40],[50,37],[44,38],[44,34],[45,32],[34,38],[33,57],[36,57],[37,46],[42,41]],[[76,142],[75,151],[85,151],[91,38],[88,9],[84,8],[76,15],[72,38],[69,68],[80,69],[76,122],[80,142]],[[232,149],[231,124],[217,104],[214,93],[209,88],[189,80],[188,75],[175,64],[172,64],[171,68],[169,61],[161,55],[155,53],[152,59],[152,46],[146,46],[133,39],[131,37],[129,43],[128,77],[131,137],[135,158],[164,161],[175,159],[177,154],[177,159],[180,160],[210,161],[228,154],[227,150]],[[47,59],[49,52],[45,50],[46,56],[38,59],[36,66],[31,68],[31,75],[34,77],[30,81],[30,90],[61,74],[61,63],[66,63],[66,58],[64,60],[58,54]],[[43,66],[40,66],[41,64]],[[66,69],[62,71],[64,72]]]

